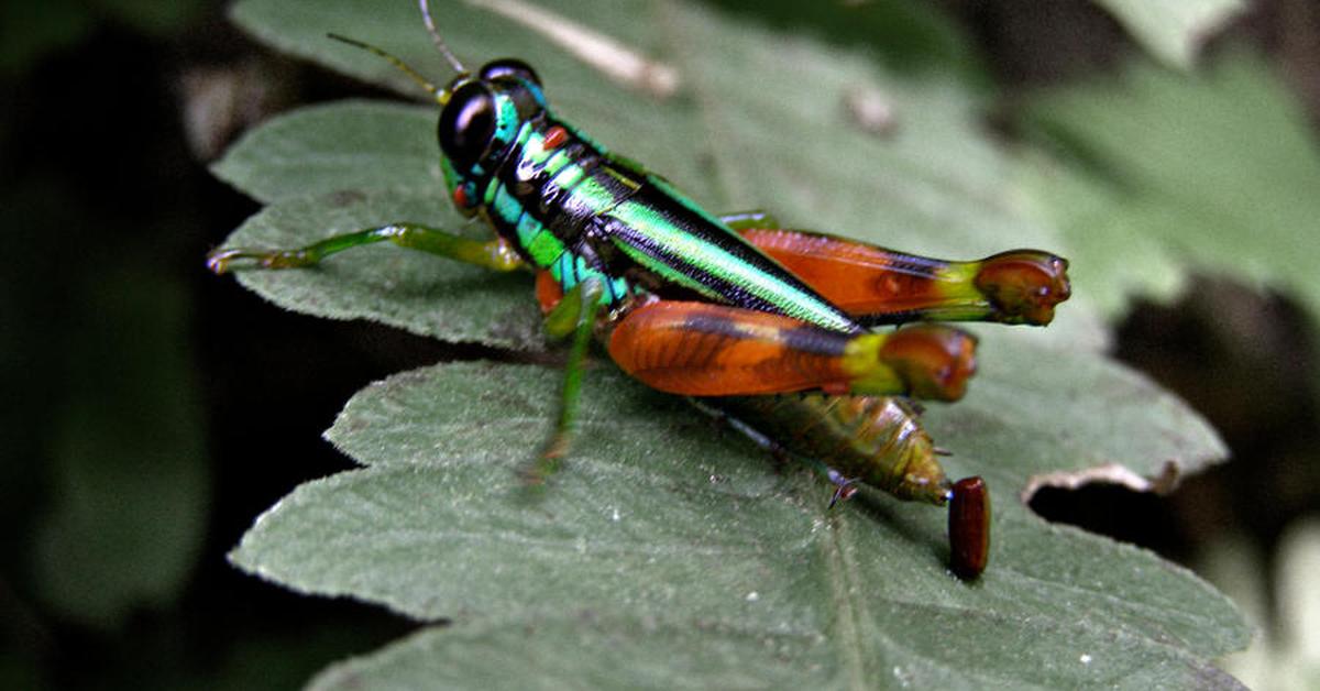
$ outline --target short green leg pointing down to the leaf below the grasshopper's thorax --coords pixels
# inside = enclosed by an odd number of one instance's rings
[[[545,330],[560,338],[572,334],[573,342],[569,346],[568,362],[564,365],[564,388],[560,394],[560,414],[556,419],[554,432],[546,440],[536,462],[523,473],[523,478],[528,484],[540,485],[558,470],[560,462],[568,455],[573,441],[573,433],[577,428],[578,399],[582,392],[582,367],[586,351],[591,345],[591,333],[601,309],[603,291],[598,281],[581,283],[557,300],[545,314]]]

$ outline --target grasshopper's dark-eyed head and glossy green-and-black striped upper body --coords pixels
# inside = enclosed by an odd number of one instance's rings
[[[525,63],[500,59],[462,74],[441,102],[454,203],[565,291],[597,280],[614,308],[638,295],[689,296],[865,330],[665,181],[554,118]]]

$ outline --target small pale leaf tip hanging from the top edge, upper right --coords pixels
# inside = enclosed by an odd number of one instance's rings
[[[1242,0],[1094,0],[1133,38],[1171,67],[1191,70],[1196,53],[1221,26],[1246,9]]]

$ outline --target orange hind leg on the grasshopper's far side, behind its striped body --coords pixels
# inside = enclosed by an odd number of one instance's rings
[[[1071,295],[1068,262],[1039,250],[946,262],[824,233],[783,230],[763,211],[721,219],[867,325],[973,320],[1044,325]]]

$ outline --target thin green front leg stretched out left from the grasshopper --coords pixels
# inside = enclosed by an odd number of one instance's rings
[[[494,271],[513,271],[523,267],[523,259],[503,238],[486,242],[474,240],[420,223],[391,223],[345,233],[292,250],[219,248],[207,255],[206,267],[215,273],[226,273],[235,268],[312,267],[330,255],[378,242],[392,242],[400,247],[420,250]]]

